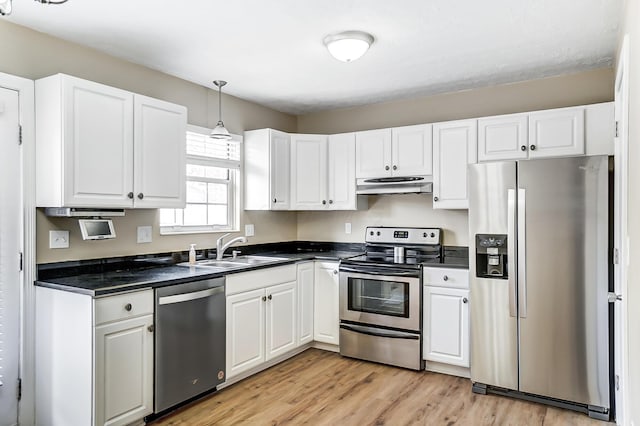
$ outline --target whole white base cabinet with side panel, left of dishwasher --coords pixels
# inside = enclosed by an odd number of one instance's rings
[[[153,412],[153,290],[93,299],[36,287],[36,424],[128,425]]]

